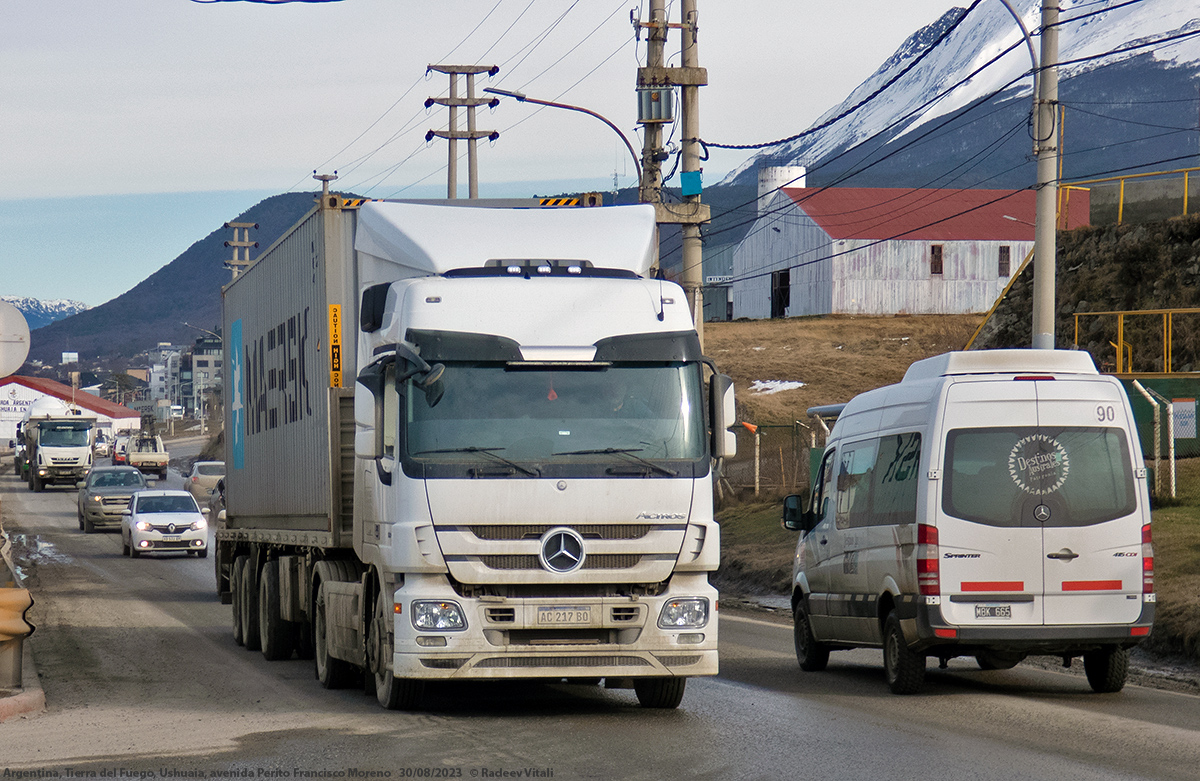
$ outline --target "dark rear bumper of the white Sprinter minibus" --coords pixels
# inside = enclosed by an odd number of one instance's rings
[[[1142,602],[1141,615],[1130,624],[1057,624],[1049,626],[962,626],[942,620],[937,606],[919,606],[917,642],[913,650],[936,647],[967,654],[968,648],[1013,650],[1026,654],[1080,654],[1100,645],[1132,648],[1150,637],[1154,623],[1154,603]]]

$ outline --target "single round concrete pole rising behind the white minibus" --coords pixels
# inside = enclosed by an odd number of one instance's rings
[[[1058,202],[1058,0],[1042,0],[1042,67],[1033,151],[1038,158],[1037,228],[1033,235],[1033,344],[1055,347],[1055,264]]]

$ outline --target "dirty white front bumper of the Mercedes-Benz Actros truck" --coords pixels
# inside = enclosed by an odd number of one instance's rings
[[[672,600],[707,601],[702,625],[660,626]],[[656,596],[458,596],[445,577],[415,576],[395,593],[397,678],[640,678],[715,675],[716,590],[707,573],[677,573]],[[454,602],[466,626],[418,630],[413,606]]]

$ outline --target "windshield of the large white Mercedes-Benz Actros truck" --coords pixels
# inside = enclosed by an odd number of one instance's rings
[[[707,452],[695,364],[449,362],[443,382],[445,396],[434,407],[420,391],[404,393],[408,459],[503,468],[499,456],[526,467],[606,464],[672,475],[653,462],[697,461]]]

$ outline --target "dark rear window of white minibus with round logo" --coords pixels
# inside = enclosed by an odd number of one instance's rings
[[[1080,527],[1135,509],[1129,446],[1120,428],[958,428],[947,434],[947,515],[995,527]]]

